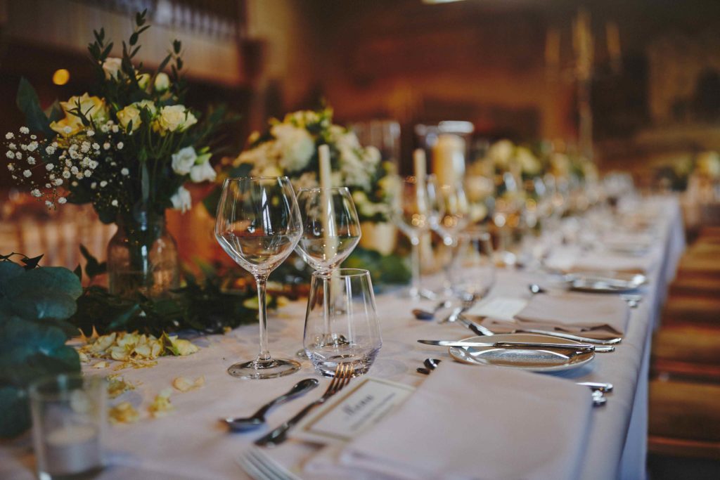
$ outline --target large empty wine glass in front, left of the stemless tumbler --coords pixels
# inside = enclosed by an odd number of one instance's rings
[[[265,290],[267,278],[302,236],[300,209],[287,177],[227,178],[217,204],[215,238],[258,286],[260,352],[235,363],[228,373],[243,379],[271,379],[297,371],[300,363],[271,358],[268,350]]]

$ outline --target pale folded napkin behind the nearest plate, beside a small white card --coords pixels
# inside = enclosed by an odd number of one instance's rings
[[[623,335],[630,310],[619,296],[563,291],[534,295],[515,316],[516,325],[539,330],[606,330]]]

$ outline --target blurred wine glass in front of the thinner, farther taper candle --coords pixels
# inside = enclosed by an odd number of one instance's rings
[[[412,273],[410,296],[413,298],[436,296],[432,292],[423,291],[420,284],[420,237],[437,223],[439,216],[437,208],[432,182],[418,181],[415,176],[408,176],[402,181],[400,196],[395,201],[393,210],[398,227],[410,239]]]

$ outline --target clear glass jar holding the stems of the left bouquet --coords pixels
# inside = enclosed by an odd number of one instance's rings
[[[146,213],[120,218],[107,245],[107,273],[111,294],[157,298],[180,286],[175,239],[165,216]]]

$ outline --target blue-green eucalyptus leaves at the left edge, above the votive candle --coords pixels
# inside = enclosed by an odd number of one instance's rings
[[[20,256],[24,266],[12,261]],[[80,279],[67,268],[39,267],[42,257],[0,255],[0,437],[30,427],[28,384],[42,376],[80,371],[66,341],[77,330],[66,320],[76,311]]]

